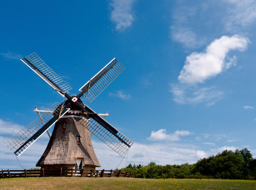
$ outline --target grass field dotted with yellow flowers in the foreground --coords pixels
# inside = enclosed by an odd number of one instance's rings
[[[226,179],[138,179],[33,177],[0,179],[0,189],[256,189],[256,181]]]

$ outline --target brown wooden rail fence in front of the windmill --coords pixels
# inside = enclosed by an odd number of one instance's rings
[[[128,177],[133,178],[135,173],[121,170],[85,170],[85,169],[39,169],[39,170],[1,170],[0,178],[27,178],[27,177]]]

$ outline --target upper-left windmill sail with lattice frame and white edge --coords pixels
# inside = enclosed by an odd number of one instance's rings
[[[54,90],[64,97],[64,93],[69,93],[72,88],[63,81],[46,63],[34,52],[27,57],[20,59],[39,77],[44,79]]]

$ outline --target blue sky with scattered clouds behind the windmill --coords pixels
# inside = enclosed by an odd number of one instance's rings
[[[114,57],[126,67],[92,103],[134,144],[120,157],[92,138],[102,169],[256,157],[256,2],[106,0],[0,3],[0,169],[35,167],[44,134],[17,158],[4,142],[61,97],[20,61],[36,52],[82,87]],[[49,129],[52,132],[52,128]],[[107,159],[106,159],[107,158]]]

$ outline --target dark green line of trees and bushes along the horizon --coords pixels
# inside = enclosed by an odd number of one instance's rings
[[[136,172],[135,178],[149,179],[251,179],[256,180],[256,158],[250,151],[224,150],[222,153],[198,160],[195,164],[148,165],[129,164],[122,171]]]

